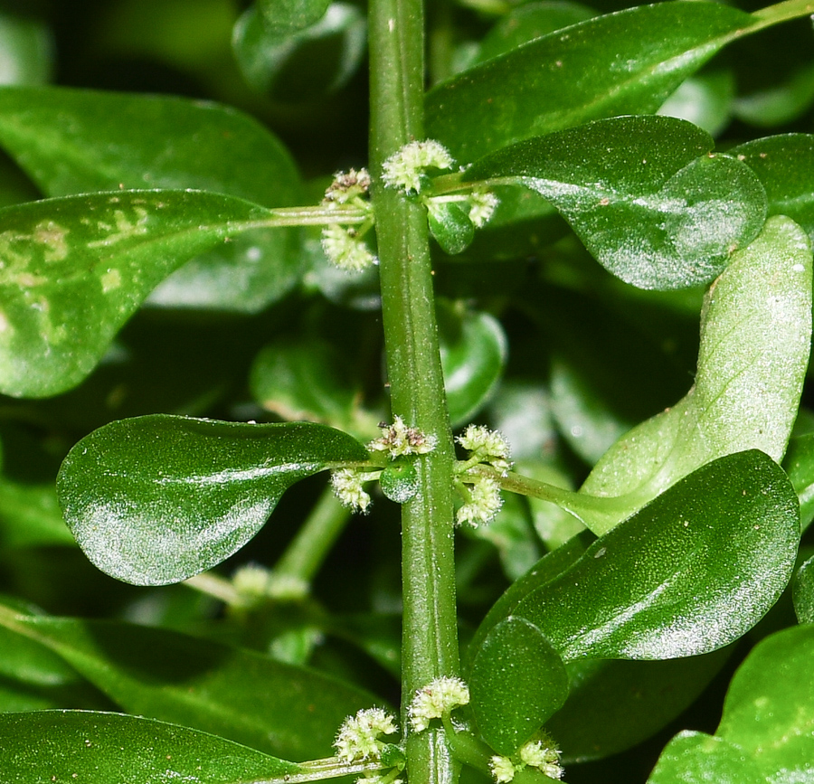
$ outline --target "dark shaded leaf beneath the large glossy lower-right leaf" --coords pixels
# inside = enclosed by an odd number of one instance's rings
[[[545,724],[563,763],[601,760],[652,737],[696,701],[731,653],[569,662],[568,699]]]

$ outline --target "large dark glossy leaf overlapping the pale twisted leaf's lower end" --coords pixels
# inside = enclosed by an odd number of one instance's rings
[[[739,452],[670,487],[511,614],[566,661],[696,656],[740,638],[771,608],[799,539],[785,473],[762,452]]]

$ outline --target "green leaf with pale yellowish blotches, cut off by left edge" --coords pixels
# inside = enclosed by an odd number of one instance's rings
[[[90,373],[147,294],[269,211],[196,191],[87,194],[0,211],[0,392],[45,397]]]

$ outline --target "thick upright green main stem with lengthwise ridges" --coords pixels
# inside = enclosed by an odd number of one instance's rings
[[[420,492],[402,506],[402,704],[459,671],[452,527],[454,449],[444,397],[423,206],[381,184],[382,163],[423,137],[421,0],[370,0],[371,174],[384,342],[393,414],[434,436],[418,458]],[[402,709],[402,721],[407,717]],[[450,784],[456,766],[442,730],[408,734],[416,784]]]

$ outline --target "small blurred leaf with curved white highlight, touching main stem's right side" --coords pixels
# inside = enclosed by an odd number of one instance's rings
[[[494,316],[437,304],[441,366],[453,427],[486,405],[506,365],[506,335]]]

